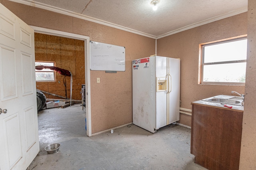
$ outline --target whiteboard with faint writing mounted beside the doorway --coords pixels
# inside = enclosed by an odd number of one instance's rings
[[[90,41],[90,69],[125,71],[125,47]]]

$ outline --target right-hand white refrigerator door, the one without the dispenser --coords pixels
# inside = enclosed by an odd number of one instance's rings
[[[168,124],[180,120],[180,59],[169,58]]]

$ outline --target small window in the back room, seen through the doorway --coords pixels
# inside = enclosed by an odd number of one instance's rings
[[[44,65],[44,66],[54,66],[55,62],[52,61],[36,61],[37,65]],[[56,81],[55,78],[55,71],[50,69],[36,69],[36,81]]]

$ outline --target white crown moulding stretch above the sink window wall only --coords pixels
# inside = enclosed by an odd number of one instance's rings
[[[191,28],[195,28],[195,27],[198,27],[198,26],[202,26],[202,25],[204,25],[204,24],[208,24],[208,23],[210,23],[210,22],[222,20],[222,19],[228,18],[228,17],[230,17],[230,16],[235,16],[235,15],[238,15],[238,14],[242,14],[242,13],[247,12],[247,11],[248,11],[247,7],[244,7],[244,8],[241,8],[241,9],[239,9],[239,10],[234,10],[234,11],[228,12],[228,13],[226,13],[226,14],[222,14],[222,15],[219,15],[219,16],[214,16],[214,17],[212,17],[212,18],[208,18],[208,19],[206,19],[206,20],[202,20],[202,21],[200,21],[200,22],[196,22],[196,23],[194,23],[194,24],[190,24],[190,25],[188,25],[188,26],[184,26],[184,27],[179,28],[179,29],[177,29],[177,30],[173,30],[173,31],[171,31],[171,32],[167,32],[167,33],[165,33],[165,34],[162,34],[162,35],[160,35],[160,36],[157,36],[156,39],[164,38],[164,37],[170,36],[170,35],[172,35],[172,34],[176,34],[176,33],[178,33],[178,32],[186,31],[186,30],[189,30],[189,29],[191,29]]]

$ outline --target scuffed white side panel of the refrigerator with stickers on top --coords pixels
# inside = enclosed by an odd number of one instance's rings
[[[132,61],[133,124],[152,133],[156,132],[155,57]]]

